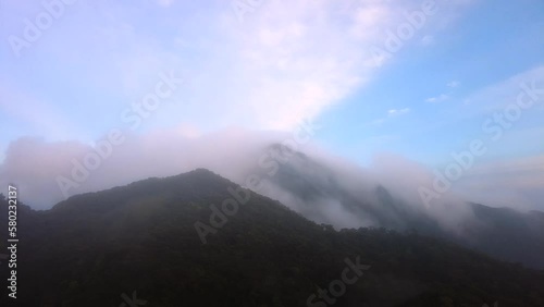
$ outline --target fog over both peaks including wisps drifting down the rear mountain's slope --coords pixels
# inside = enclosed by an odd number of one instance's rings
[[[207,168],[281,200],[318,222],[339,228],[376,226],[383,223],[373,217],[354,216],[354,212],[346,211],[350,201],[381,206],[376,198],[380,196],[375,193],[379,187],[385,187],[391,195],[401,200],[397,205],[401,207],[399,209],[429,216],[445,228],[455,228],[461,220],[472,216],[465,202],[471,200],[465,197],[470,195],[470,191],[467,189],[463,195],[462,188],[459,188],[462,187],[462,180],[453,182],[452,191],[440,194],[440,198],[432,199],[431,206],[425,206],[419,188],[425,186],[432,189],[435,180],[432,170],[386,154],[378,155],[370,165],[360,167],[312,143],[316,131],[301,131],[299,134],[304,138],[298,143],[294,140],[297,136],[295,133],[250,132],[242,128],[194,137],[176,131],[161,132],[160,137],[156,134],[126,134],[126,140],[120,146],[112,146],[111,155],[100,159],[95,170],[85,167],[85,157],[104,149],[94,149],[76,142],[48,143],[25,137],[10,145],[0,167],[0,184],[17,183],[23,191],[20,196],[23,200],[36,209],[47,209],[65,198],[63,189],[70,196],[146,177]],[[540,162],[533,161],[534,164]],[[73,172],[76,177],[73,177]],[[84,176],[85,172],[88,175]],[[67,181],[63,182],[60,177]],[[248,182],[255,181],[254,177],[258,179],[258,185]],[[542,180],[542,175],[534,180]],[[502,193],[512,195],[517,188],[503,189]],[[496,204],[493,195],[490,195],[490,201],[484,205],[539,208],[542,204],[537,199],[542,199],[539,197],[543,197],[544,192],[535,186],[532,193],[534,198],[524,199],[524,204]],[[350,199],[345,195],[349,195]],[[403,219],[398,212],[390,214],[392,220]]]

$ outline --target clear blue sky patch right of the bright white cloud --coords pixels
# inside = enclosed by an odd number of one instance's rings
[[[543,13],[544,3],[536,1],[475,1],[454,25],[434,34],[431,45],[418,46],[415,41],[344,106],[325,114],[325,125],[334,127],[326,131],[327,142],[351,147],[363,160],[375,150],[403,152],[423,163],[440,163],[445,156],[448,159],[446,154],[460,150],[459,143],[478,137],[481,131],[477,125],[493,114],[481,107],[493,101],[474,101],[466,113],[459,107],[465,99],[542,65]],[[425,101],[441,95],[447,99]],[[376,103],[368,106],[367,101]],[[385,119],[387,110],[406,108],[409,112],[403,116],[368,124]],[[542,112],[532,112],[536,114],[528,115],[512,131],[542,127]],[[346,133],[346,125],[357,133]],[[540,135],[544,139],[544,134]],[[526,145],[510,148],[510,154],[534,155],[544,149],[542,140],[539,148],[533,146],[537,139],[524,140]]]

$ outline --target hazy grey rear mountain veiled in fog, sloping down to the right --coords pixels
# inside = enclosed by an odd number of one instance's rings
[[[264,168],[272,164],[263,163],[251,170],[264,179],[259,192],[310,220],[336,229],[415,230],[503,260],[544,269],[543,212],[524,213],[467,201],[443,201],[430,210],[419,197],[408,199],[397,193],[391,182],[369,181],[362,170],[346,172],[298,151],[286,155],[279,144],[270,145],[267,151],[285,158],[276,159],[275,168]],[[417,186],[412,189],[417,192]]]

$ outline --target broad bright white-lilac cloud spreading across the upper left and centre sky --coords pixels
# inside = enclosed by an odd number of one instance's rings
[[[288,130],[301,118],[319,116],[372,78],[379,69],[372,47],[383,45],[386,30],[404,21],[403,12],[421,5],[268,0],[240,23],[230,1],[205,13],[190,2],[152,4],[89,4],[96,7],[92,14],[75,11],[81,23],[55,27],[40,48],[62,59],[59,66],[77,67],[81,77],[74,82],[82,87],[111,94],[92,106],[82,103],[103,112],[140,98],[159,71],[188,76],[190,88],[177,94],[178,103],[157,114],[157,122],[186,122],[203,131],[228,125]],[[438,14],[452,11],[444,7]]]

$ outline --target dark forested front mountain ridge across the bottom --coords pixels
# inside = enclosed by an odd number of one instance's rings
[[[203,169],[21,204],[17,228],[16,306],[544,306],[543,271],[417,232],[336,231]]]

